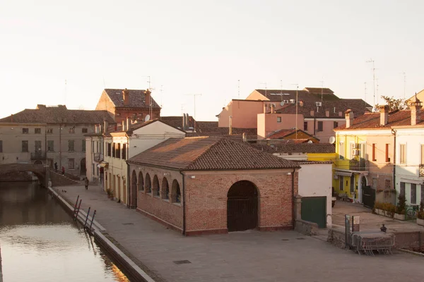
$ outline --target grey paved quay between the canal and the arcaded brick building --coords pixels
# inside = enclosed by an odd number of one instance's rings
[[[404,253],[360,256],[294,231],[245,231],[184,237],[107,199],[91,185],[56,188],[160,278],[157,281],[422,281],[424,258]],[[175,261],[188,260],[188,264]]]

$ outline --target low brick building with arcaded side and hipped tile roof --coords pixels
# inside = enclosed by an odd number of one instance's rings
[[[136,209],[184,235],[293,228],[293,161],[228,138],[186,137],[127,163]]]

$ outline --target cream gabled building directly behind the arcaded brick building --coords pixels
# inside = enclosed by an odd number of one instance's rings
[[[86,135],[87,176],[102,183],[105,190],[112,190],[117,200],[131,207],[134,200],[128,192],[126,160],[170,137],[183,138],[185,132],[158,120],[131,123],[128,118],[117,127],[118,130],[105,133],[102,130],[105,126],[99,126],[95,133]]]

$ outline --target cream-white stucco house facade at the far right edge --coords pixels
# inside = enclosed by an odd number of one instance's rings
[[[400,164],[400,145],[406,145],[406,164]],[[421,145],[424,145],[424,128],[396,128],[395,188],[405,183],[406,204],[411,205],[411,183],[416,184],[416,203],[424,200],[424,178],[419,177]],[[399,195],[399,194],[397,194]],[[397,201],[397,199],[396,199]]]

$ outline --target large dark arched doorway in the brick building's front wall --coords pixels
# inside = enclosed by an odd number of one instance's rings
[[[244,231],[258,226],[258,190],[247,180],[234,183],[227,194],[227,228]]]

